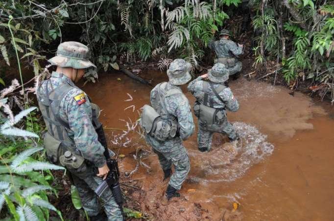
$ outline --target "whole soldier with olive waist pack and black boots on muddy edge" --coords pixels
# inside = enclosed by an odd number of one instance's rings
[[[191,65],[183,59],[175,59],[167,70],[169,82],[158,84],[151,91],[151,106],[145,105],[141,117],[141,126],[146,132],[146,142],[158,155],[164,171],[164,180],[171,175],[163,204],[172,197],[180,197],[181,189],[190,171],[190,160],[182,140],[194,132],[191,108],[180,85],[191,80]]]

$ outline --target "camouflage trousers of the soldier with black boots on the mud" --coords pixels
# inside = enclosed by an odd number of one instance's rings
[[[175,189],[180,190],[190,171],[190,160],[186,148],[182,147],[178,150],[164,153],[159,152],[154,148],[153,151],[158,155],[163,170],[168,170],[174,165],[174,173],[170,177],[168,184]]]

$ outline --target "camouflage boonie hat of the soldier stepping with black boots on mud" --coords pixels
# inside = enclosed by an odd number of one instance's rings
[[[169,82],[172,85],[184,85],[191,80],[189,73],[191,64],[183,59],[175,59],[167,70]]]

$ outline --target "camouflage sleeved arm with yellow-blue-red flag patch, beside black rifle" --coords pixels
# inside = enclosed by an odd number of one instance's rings
[[[74,133],[74,143],[82,156],[102,167],[106,163],[103,155],[104,147],[98,142],[97,133],[92,124],[92,108],[89,100],[78,102],[75,96],[83,93],[82,90],[73,89],[65,96],[66,112],[70,129]]]

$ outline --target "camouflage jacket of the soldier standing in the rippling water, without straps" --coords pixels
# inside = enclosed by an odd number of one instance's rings
[[[201,104],[204,103],[204,91],[203,91],[203,79],[201,77],[196,78],[188,85],[188,90],[196,97],[197,101]],[[215,88],[219,87],[222,83],[212,83]],[[213,108],[215,109],[226,109],[230,111],[237,111],[239,109],[238,100],[234,97],[232,90],[229,87],[223,89],[219,96],[224,101],[221,102],[216,96],[211,87],[209,90],[209,99],[213,101]]]

